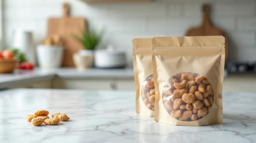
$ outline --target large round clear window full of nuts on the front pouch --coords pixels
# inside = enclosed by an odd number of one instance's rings
[[[162,92],[163,105],[171,118],[195,121],[206,116],[212,107],[214,93],[202,75],[183,72],[172,76]]]

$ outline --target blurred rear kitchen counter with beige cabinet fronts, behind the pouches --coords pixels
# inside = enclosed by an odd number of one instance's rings
[[[47,81],[46,83],[42,83]],[[34,83],[39,82],[39,86]],[[29,86],[22,87],[24,84]],[[21,87],[20,87],[21,86]],[[16,70],[0,74],[0,90],[11,88],[68,88],[135,90],[133,69],[76,68]],[[231,74],[224,78],[223,91],[256,91],[256,74]]]

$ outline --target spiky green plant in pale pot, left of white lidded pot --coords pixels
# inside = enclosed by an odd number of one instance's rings
[[[78,69],[90,68],[93,65],[94,49],[99,44],[102,37],[102,31],[87,27],[82,31],[82,36],[74,35],[84,47],[78,53],[74,53],[73,60]]]

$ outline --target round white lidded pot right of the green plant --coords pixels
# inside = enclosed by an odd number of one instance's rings
[[[94,53],[94,64],[98,68],[123,68],[126,65],[126,53],[114,50],[109,45],[107,49],[99,49]]]

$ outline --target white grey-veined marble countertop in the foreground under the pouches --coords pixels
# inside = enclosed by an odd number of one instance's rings
[[[135,91],[15,89],[0,91],[1,143],[252,143],[256,92],[223,93],[223,124],[173,126],[135,113]],[[59,125],[32,126],[36,110],[66,113]]]

